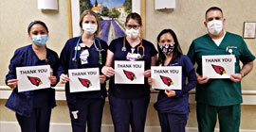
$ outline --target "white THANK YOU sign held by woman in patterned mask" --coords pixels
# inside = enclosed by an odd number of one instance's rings
[[[151,77],[152,88],[159,90],[181,90],[182,89],[182,67],[181,66],[152,66]]]

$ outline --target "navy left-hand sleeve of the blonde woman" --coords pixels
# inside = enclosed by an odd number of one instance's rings
[[[68,42],[66,41],[65,45],[64,45],[64,49],[61,52],[61,56],[60,56],[60,65],[58,68],[58,72],[57,72],[57,77],[60,78],[61,74],[67,74],[67,69],[68,69],[68,58],[70,55],[70,51],[68,49]]]

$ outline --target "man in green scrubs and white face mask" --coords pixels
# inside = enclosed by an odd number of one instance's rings
[[[223,30],[225,18],[221,8],[206,11],[208,34],[192,41],[188,57],[197,63],[196,114],[200,132],[213,132],[218,118],[220,131],[239,132],[241,103],[241,80],[253,67],[255,57],[242,37]],[[210,79],[202,76],[202,56],[234,55],[235,74],[228,79]],[[243,66],[240,68],[239,61]]]

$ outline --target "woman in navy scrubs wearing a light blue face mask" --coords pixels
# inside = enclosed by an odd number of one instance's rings
[[[59,58],[57,53],[46,48],[48,28],[44,22],[34,21],[28,25],[28,36],[32,44],[17,49],[10,60],[7,85],[13,89],[6,107],[16,112],[16,118],[22,132],[48,132],[51,108],[55,107],[55,90],[18,92],[16,68],[24,66],[50,65],[53,70],[49,79],[51,86],[58,82],[56,78]]]

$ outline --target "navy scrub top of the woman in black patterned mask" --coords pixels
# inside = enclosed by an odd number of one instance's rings
[[[175,90],[174,97],[168,97],[164,90],[159,91],[155,108],[160,113],[187,114],[190,112],[189,91],[197,85],[197,77],[191,59],[187,56],[182,55],[176,62],[171,62],[168,66],[182,66],[182,90]]]

